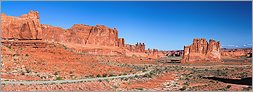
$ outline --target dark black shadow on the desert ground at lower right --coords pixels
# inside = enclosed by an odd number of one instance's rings
[[[205,79],[216,80],[224,83],[239,84],[239,85],[252,85],[252,77],[242,78],[242,79],[225,79],[217,77],[204,77]]]

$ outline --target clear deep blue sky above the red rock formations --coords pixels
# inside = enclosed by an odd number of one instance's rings
[[[2,2],[2,12],[36,10],[42,24],[116,27],[126,43],[183,49],[193,38],[213,38],[224,47],[252,44],[251,2]]]

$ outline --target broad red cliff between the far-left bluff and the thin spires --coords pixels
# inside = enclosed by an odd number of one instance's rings
[[[83,24],[75,24],[70,29],[43,26],[43,39],[49,41],[60,41],[76,44],[92,44],[98,46],[119,46],[118,31],[114,28],[108,28],[103,25],[88,26]],[[57,32],[54,32],[57,31]],[[120,39],[121,45],[124,39]]]

